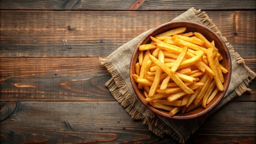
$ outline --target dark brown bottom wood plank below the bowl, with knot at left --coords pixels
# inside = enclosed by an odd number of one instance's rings
[[[188,143],[255,143],[255,109],[251,102],[227,104]],[[17,102],[16,112],[0,126],[1,143],[176,143],[154,136],[114,101]]]

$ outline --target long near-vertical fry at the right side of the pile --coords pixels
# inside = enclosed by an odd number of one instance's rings
[[[219,73],[216,70],[215,61],[213,59],[213,49],[208,49],[207,52],[207,60],[209,62],[209,66],[212,69],[213,73],[215,73],[215,76],[213,77],[216,82],[216,86],[219,89],[219,91],[224,91],[224,86],[221,83],[221,79],[219,78]]]

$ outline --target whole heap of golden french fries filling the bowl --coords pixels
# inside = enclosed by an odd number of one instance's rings
[[[224,91],[228,73],[215,41],[199,32],[185,32],[186,27],[172,29],[139,46],[132,75],[145,101],[170,116],[206,108],[218,91]]]

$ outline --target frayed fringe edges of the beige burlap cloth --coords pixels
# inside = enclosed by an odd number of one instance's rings
[[[195,14],[201,19],[201,22],[204,25],[215,31],[216,34],[218,34],[222,38],[222,40],[230,50],[230,55],[233,56],[234,59],[236,59],[237,64],[242,64],[246,68],[246,70],[248,70],[249,77],[245,79],[242,83],[240,83],[240,85],[238,85],[236,89],[234,89],[234,92],[236,92],[237,95],[242,95],[246,91],[251,91],[251,89],[248,88],[248,85],[249,82],[251,82],[251,80],[254,79],[256,76],[254,71],[250,70],[245,65],[244,59],[239,55],[239,53],[234,51],[233,46],[228,43],[227,38],[222,36],[217,26],[212,22],[212,20],[205,12],[201,13],[201,10],[195,10],[194,8],[192,8],[192,10],[194,10]],[[144,116],[143,113],[139,112],[139,110],[133,107],[135,101],[138,100],[135,93],[128,88],[128,86],[124,82],[124,79],[115,69],[114,65],[112,65],[112,62],[108,61],[108,58],[100,59],[100,62],[102,65],[105,65],[109,73],[111,73],[112,75],[112,78],[105,85],[109,88],[109,91],[114,96],[114,98],[121,104],[121,106],[124,107],[124,109],[126,109],[126,112],[129,113],[129,115],[132,116],[133,119],[140,119],[143,124],[148,125],[148,129],[156,134],[156,136],[163,137],[163,134],[166,133],[173,137],[175,140],[178,140],[178,142],[180,143],[184,143],[187,139],[189,139],[190,135],[179,136],[177,133],[175,133],[174,130],[172,130],[171,127],[166,125],[165,122],[157,118],[153,112],[150,113],[150,116]],[[234,97],[232,97],[230,100],[232,100],[233,98]],[[195,131],[191,132],[194,133]]]

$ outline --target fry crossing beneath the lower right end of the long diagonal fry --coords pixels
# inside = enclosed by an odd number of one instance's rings
[[[190,85],[189,88],[192,89],[192,90],[195,90],[195,89],[200,88],[201,86],[204,86],[204,83],[197,82],[197,83],[194,83],[193,85]],[[169,102],[172,102],[172,101],[178,100],[178,98],[181,98],[181,97],[183,97],[183,96],[186,95],[186,94],[187,94],[187,93],[184,92],[184,91],[176,92],[175,94],[170,95],[170,96],[167,98],[167,100],[168,100]]]

